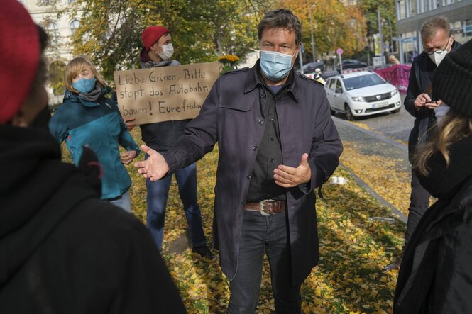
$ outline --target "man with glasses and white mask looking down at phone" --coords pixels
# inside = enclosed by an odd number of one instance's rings
[[[439,108],[441,101],[434,98],[434,91],[431,89],[434,71],[447,53],[455,51],[461,45],[451,36],[451,26],[444,16],[425,21],[421,28],[421,38],[424,51],[413,60],[404,102],[407,111],[416,118],[408,140],[410,162],[415,147],[426,141],[429,127],[436,123],[435,111],[439,112],[444,108],[444,106]],[[430,195],[419,184],[414,172],[412,172],[411,187],[405,245],[410,240],[423,213],[429,207]],[[400,259],[385,267],[385,270],[398,267],[400,267]]]

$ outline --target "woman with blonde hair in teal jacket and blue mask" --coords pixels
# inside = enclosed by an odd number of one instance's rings
[[[65,87],[62,106],[50,121],[50,132],[66,142],[76,165],[87,145],[99,159],[101,198],[115,203],[131,213],[129,188],[131,178],[124,167],[139,148],[126,129],[116,102],[105,97],[110,89],[87,57],[76,57],[65,68]],[[126,149],[120,155],[119,145]]]

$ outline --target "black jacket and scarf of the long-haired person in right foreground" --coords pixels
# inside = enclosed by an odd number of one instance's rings
[[[405,248],[394,313],[472,313],[472,135],[437,154],[429,176],[417,176],[438,201]]]

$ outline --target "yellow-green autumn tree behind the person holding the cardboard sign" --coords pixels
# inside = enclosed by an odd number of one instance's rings
[[[68,12],[80,27],[72,36],[74,54],[85,54],[106,79],[138,66],[141,31],[162,25],[171,30],[175,57],[182,64],[243,57],[257,47],[256,26],[270,1],[263,0],[77,0]]]

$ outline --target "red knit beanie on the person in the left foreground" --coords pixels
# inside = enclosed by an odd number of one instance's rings
[[[38,29],[18,0],[0,9],[0,124],[11,120],[31,89],[40,60]]]

